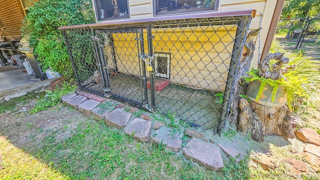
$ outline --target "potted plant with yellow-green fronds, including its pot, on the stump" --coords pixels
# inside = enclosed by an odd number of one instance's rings
[[[320,89],[319,63],[302,54],[275,52],[258,63],[257,69],[247,72],[247,97],[259,104],[282,107],[291,111],[310,104]]]

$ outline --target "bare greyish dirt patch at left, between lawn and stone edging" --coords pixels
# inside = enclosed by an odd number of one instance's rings
[[[80,122],[88,118],[73,108],[62,104],[30,114],[31,106],[20,107],[20,112],[0,114],[0,134],[15,146],[32,150],[40,148],[41,140],[55,133],[55,140],[69,138]]]

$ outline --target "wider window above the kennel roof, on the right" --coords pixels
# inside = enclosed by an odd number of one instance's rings
[[[154,0],[156,15],[216,11],[219,0]]]

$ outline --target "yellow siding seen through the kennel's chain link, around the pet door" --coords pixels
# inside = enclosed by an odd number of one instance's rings
[[[152,34],[155,36],[152,42],[153,52],[171,53],[171,82],[194,88],[223,91],[236,26],[226,25],[225,28],[213,26],[213,29],[210,27],[204,30],[205,35],[203,29],[205,27],[153,29]],[[133,33],[113,34],[118,70],[139,75],[138,49],[134,38]],[[220,41],[220,38],[223,40]],[[146,43],[145,38],[145,53],[147,53]]]

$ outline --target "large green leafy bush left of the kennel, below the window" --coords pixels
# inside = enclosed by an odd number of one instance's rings
[[[63,36],[57,28],[94,22],[91,0],[39,0],[28,10],[22,25],[43,70],[51,67],[66,77],[73,75]]]

